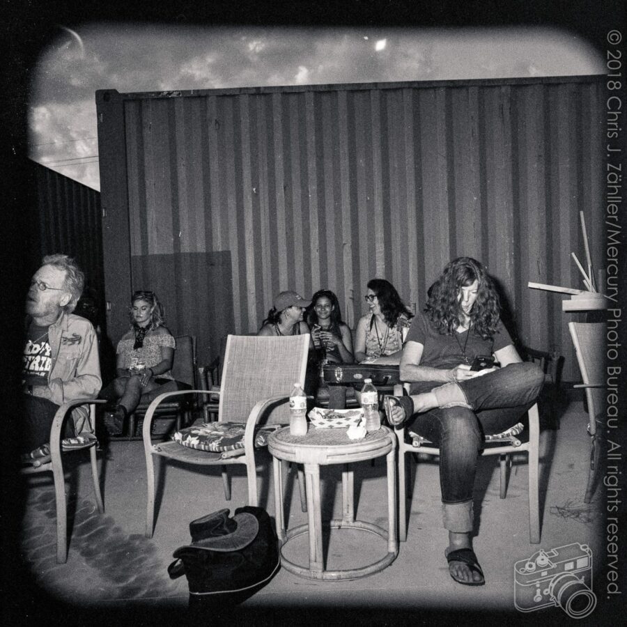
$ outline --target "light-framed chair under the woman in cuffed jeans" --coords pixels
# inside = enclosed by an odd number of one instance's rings
[[[407,385],[407,384],[405,384]],[[403,387],[398,385],[394,389],[395,396],[403,394]],[[486,443],[481,451],[481,456],[498,455],[500,457],[500,497],[507,495],[507,483],[511,468],[512,454],[527,453],[529,476],[529,542],[540,542],[540,505],[539,505],[539,446],[540,446],[540,419],[537,403],[529,408],[529,438],[527,442],[518,440],[522,432],[522,423],[507,429],[496,435],[486,435]],[[394,428],[398,439],[398,539],[407,540],[407,479],[405,476],[406,459],[408,453],[424,453],[426,455],[439,456],[440,449],[434,447],[431,442],[417,434],[407,433],[404,425]],[[418,456],[414,456],[418,461]]]

